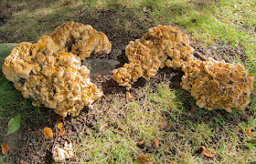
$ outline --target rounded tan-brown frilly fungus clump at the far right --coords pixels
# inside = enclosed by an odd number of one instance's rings
[[[238,64],[208,58],[187,62],[182,70],[181,86],[195,97],[199,108],[231,108],[243,110],[250,102],[253,77]]]

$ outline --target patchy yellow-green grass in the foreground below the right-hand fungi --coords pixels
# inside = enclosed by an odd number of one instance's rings
[[[111,115],[97,122],[99,130],[90,135],[80,135],[76,149],[79,162],[136,163],[138,157],[152,159],[155,163],[249,163],[255,161],[255,118],[240,121],[240,112],[216,113],[196,108],[194,115],[183,108],[183,94],[161,83],[141,90],[144,97],[133,102],[113,98]],[[102,107],[94,108],[100,110]],[[122,110],[122,111],[121,111]],[[119,113],[125,116],[119,118]],[[165,113],[165,117],[164,117]],[[168,122],[170,128],[160,126]],[[144,140],[145,147],[154,147],[157,138],[160,147],[148,152],[137,147]],[[213,158],[197,154],[200,146],[213,149]]]

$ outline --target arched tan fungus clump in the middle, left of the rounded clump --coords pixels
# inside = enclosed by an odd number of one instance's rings
[[[112,78],[129,90],[139,77],[146,80],[154,77],[159,67],[181,67],[183,61],[193,59],[192,51],[187,35],[179,28],[152,27],[141,39],[131,41],[125,47],[129,63],[113,70]]]

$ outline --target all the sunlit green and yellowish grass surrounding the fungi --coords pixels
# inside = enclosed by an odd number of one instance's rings
[[[82,13],[97,19],[99,11],[110,10],[115,12],[110,23],[125,33],[136,31],[143,36],[145,31],[134,29],[134,22],[144,27],[172,25],[180,27],[198,46],[225,45],[240,50],[242,57],[236,54],[235,62],[243,63],[256,77],[255,5],[253,0],[4,0],[0,6],[9,6],[12,13],[0,26],[0,43],[36,42],[61,23],[80,19]],[[155,163],[255,163],[255,89],[244,113],[194,107],[186,91],[171,89],[168,83],[144,87],[139,95],[139,99],[133,95],[133,102],[120,95],[112,99],[110,114],[97,120],[98,130],[80,134],[81,143],[75,148],[77,162],[137,163],[137,158],[144,157]],[[32,107],[0,73],[0,121],[18,114],[23,119],[44,117],[40,108]],[[164,124],[168,128],[161,128]],[[155,148],[154,139],[159,148]],[[144,147],[139,148],[137,143],[142,140]],[[201,146],[213,149],[215,156],[197,154]],[[4,159],[0,157],[1,162]]]

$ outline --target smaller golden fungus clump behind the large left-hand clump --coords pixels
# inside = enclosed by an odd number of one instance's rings
[[[94,55],[109,54],[112,45],[108,37],[90,25],[69,21],[58,26],[51,34],[53,41],[67,52],[80,56],[81,60]]]

